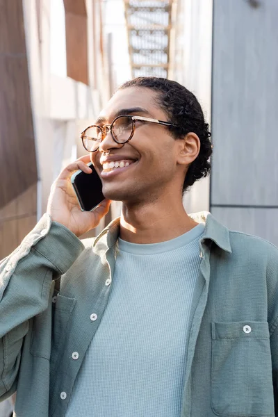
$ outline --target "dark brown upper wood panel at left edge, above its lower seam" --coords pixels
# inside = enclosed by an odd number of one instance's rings
[[[0,0],[0,208],[37,181],[22,1]]]

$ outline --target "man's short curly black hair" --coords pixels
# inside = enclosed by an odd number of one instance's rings
[[[184,138],[189,132],[194,132],[199,137],[200,151],[186,173],[183,183],[183,193],[185,193],[195,181],[208,176],[211,172],[211,132],[208,131],[208,124],[204,120],[199,101],[183,85],[156,76],[140,76],[126,81],[118,90],[129,87],[145,87],[158,92],[156,103],[165,111],[169,120],[178,126],[169,127],[175,139]]]

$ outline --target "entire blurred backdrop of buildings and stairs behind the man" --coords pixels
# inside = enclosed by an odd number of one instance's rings
[[[185,85],[211,124],[212,174],[188,213],[278,245],[277,18],[277,0],[0,0],[0,259],[84,153],[79,133],[140,75]]]

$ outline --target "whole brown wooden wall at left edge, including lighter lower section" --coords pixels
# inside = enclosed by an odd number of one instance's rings
[[[22,1],[0,0],[0,259],[36,222],[38,179]]]

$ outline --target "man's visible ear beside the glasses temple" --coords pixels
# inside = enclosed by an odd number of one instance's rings
[[[180,165],[190,165],[197,156],[200,150],[200,140],[196,133],[190,132],[183,139],[178,139],[178,155],[177,163]]]

